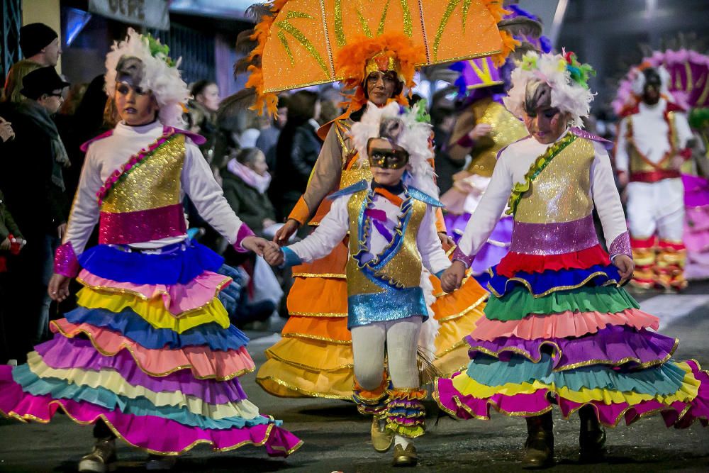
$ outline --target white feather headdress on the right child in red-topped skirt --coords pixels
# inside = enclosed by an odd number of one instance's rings
[[[512,88],[503,101],[515,116],[525,118],[527,82],[539,80],[552,89],[551,106],[568,112],[570,125],[583,127],[581,118],[588,116],[593,101],[593,94],[588,89],[588,77],[593,74],[596,74],[593,67],[578,62],[573,52],[540,55],[530,51],[513,70]]]

